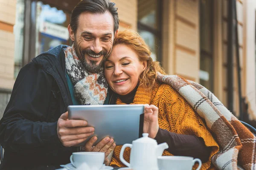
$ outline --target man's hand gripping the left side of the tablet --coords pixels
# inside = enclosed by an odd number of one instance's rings
[[[93,135],[94,128],[87,127],[86,125],[86,121],[69,120],[68,113],[63,113],[57,123],[58,138],[63,146],[74,146],[84,142],[89,136]]]

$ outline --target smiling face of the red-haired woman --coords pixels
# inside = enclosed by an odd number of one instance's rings
[[[146,61],[139,61],[137,54],[127,45],[115,45],[104,65],[108,85],[119,95],[129,94],[137,86],[146,66]]]

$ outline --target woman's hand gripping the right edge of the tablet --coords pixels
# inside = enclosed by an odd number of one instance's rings
[[[158,108],[155,105],[144,105],[143,133],[148,133],[148,136],[154,139],[158,129]]]

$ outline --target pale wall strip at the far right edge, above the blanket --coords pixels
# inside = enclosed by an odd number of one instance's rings
[[[249,104],[250,118],[256,119],[256,57],[255,23],[256,1],[247,0],[246,6],[246,100]]]

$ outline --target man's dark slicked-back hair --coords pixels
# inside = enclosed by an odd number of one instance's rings
[[[83,12],[90,12],[93,14],[104,14],[109,11],[114,19],[114,32],[119,27],[119,19],[116,4],[109,2],[109,0],[82,0],[80,1],[76,7],[73,9],[71,13],[71,21],[70,26],[72,31],[76,34],[78,27],[79,16]]]

